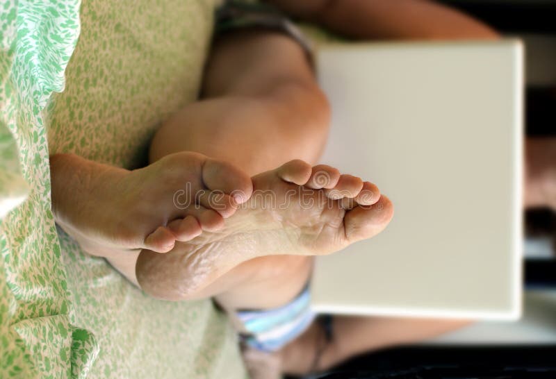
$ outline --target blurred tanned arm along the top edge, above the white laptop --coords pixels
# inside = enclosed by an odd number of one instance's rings
[[[265,0],[290,15],[361,40],[496,39],[486,24],[427,0]]]

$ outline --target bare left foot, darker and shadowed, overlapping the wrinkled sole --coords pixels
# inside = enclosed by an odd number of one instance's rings
[[[56,222],[85,251],[106,258],[134,249],[165,253],[177,241],[218,230],[252,191],[243,171],[191,152],[133,171],[76,155],[54,156],[51,167],[61,187],[53,191]]]

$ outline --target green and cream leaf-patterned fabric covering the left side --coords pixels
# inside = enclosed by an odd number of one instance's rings
[[[240,378],[210,301],[148,298],[51,214],[49,154],[145,164],[195,101],[215,0],[0,3],[0,378]]]

